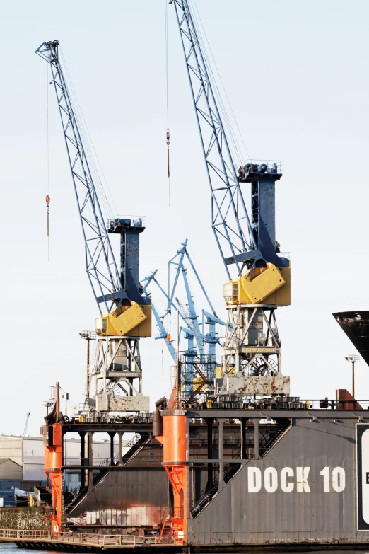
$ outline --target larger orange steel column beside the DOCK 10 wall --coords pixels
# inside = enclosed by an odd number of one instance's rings
[[[163,466],[173,490],[173,507],[166,521],[172,523],[177,540],[187,541],[187,437],[183,410],[163,410]]]

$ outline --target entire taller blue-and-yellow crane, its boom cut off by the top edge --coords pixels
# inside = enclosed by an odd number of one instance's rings
[[[291,304],[290,262],[275,238],[275,184],[281,162],[233,161],[194,17],[172,0],[211,192],[211,226],[229,281],[221,393],[289,394],[281,373],[276,308]],[[247,185],[246,185],[247,183]],[[243,192],[251,190],[252,217]]]

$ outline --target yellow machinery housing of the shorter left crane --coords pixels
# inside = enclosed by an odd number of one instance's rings
[[[117,311],[96,318],[95,330],[99,336],[148,337],[151,335],[151,306],[140,306],[133,301],[129,306],[120,306]]]

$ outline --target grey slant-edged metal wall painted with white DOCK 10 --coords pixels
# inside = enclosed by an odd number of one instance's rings
[[[369,532],[356,531],[357,422],[357,418],[341,421],[295,420],[293,427],[264,459],[247,463],[198,517],[189,520],[189,542],[369,541]],[[343,468],[345,473],[344,490],[340,492],[334,490],[332,485],[332,471],[337,467]],[[261,472],[262,486],[258,492],[250,492],[252,485],[254,488],[258,486],[249,468],[258,468]],[[275,468],[276,472],[268,469],[265,485],[266,468]],[[293,471],[283,472],[283,487],[286,489],[293,485],[291,492],[281,489],[283,468]],[[308,474],[307,468],[310,468]],[[307,475],[307,485],[297,483],[297,475],[301,475],[302,471]],[[272,478],[271,472],[274,475]],[[324,475],[321,472],[329,475],[329,485],[325,485],[329,486],[329,491],[324,491]],[[276,490],[273,490],[275,485]],[[340,483],[336,482],[335,487],[341,487]]]

